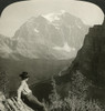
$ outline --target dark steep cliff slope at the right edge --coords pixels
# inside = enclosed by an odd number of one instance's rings
[[[105,22],[90,29],[72,65],[95,84],[105,83]]]

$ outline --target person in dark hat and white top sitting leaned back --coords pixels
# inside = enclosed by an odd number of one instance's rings
[[[18,103],[21,101],[21,95],[24,99],[24,103],[28,104],[33,110],[38,111],[46,111],[43,103],[41,103],[33,94],[32,91],[29,89],[27,81],[29,80],[28,72],[22,72],[20,74],[21,78],[21,85],[18,89]]]

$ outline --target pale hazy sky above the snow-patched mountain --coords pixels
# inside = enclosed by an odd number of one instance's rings
[[[0,18],[0,33],[12,37],[31,17],[65,10],[93,26],[103,22],[104,14],[95,4],[74,0],[30,0],[18,2],[4,9]]]

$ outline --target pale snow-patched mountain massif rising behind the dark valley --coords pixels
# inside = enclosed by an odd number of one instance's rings
[[[30,59],[71,59],[76,56],[87,30],[88,27],[81,19],[64,11],[32,17],[12,39],[0,36],[0,56],[14,59],[19,59],[19,56]]]

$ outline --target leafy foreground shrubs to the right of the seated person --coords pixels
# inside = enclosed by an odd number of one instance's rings
[[[53,78],[52,85],[49,111],[104,111],[98,101],[86,100],[86,92],[91,82],[86,81],[86,78],[78,71],[72,77],[72,89],[64,100],[56,92],[56,83]]]

